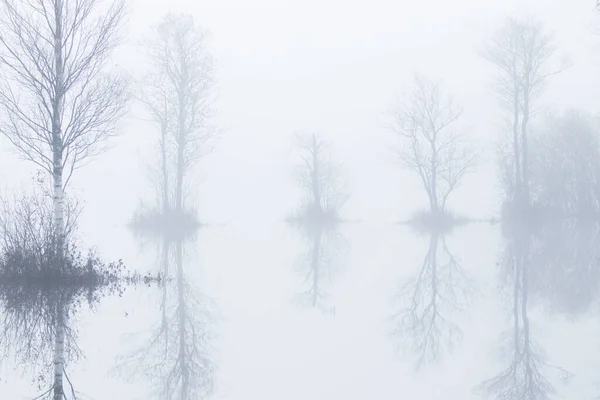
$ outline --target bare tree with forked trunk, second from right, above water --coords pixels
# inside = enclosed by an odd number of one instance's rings
[[[406,141],[400,160],[419,176],[431,212],[444,212],[448,196],[475,164],[474,153],[452,130],[459,107],[439,83],[415,75],[410,97],[391,114],[394,131]]]

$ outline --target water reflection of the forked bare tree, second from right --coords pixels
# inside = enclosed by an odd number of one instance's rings
[[[440,241],[445,262],[438,260]],[[435,361],[461,339],[461,329],[446,317],[444,308],[463,309],[471,290],[472,281],[449,252],[444,238],[432,233],[418,275],[401,290],[401,297],[409,298],[409,304],[394,315],[398,324],[394,334],[416,354],[416,368]]]

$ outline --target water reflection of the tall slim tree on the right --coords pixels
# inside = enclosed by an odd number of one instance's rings
[[[483,382],[479,390],[495,399],[550,399],[555,392],[550,379],[545,375],[548,369],[558,372],[563,379],[570,374],[548,364],[544,352],[536,348],[531,337],[531,327],[527,315],[527,302],[530,280],[529,240],[515,241],[509,247],[513,273],[513,333],[503,345],[502,354],[510,355],[508,366],[495,377]]]

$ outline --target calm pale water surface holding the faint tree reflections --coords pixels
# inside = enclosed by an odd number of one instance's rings
[[[486,224],[239,224],[179,243],[112,228],[103,254],[173,280],[84,309],[68,376],[83,399],[479,399],[486,380],[492,398],[592,399],[597,231],[524,246]],[[33,398],[35,360],[16,364],[1,398]]]

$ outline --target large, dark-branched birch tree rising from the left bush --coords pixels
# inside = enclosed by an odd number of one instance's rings
[[[64,231],[64,189],[74,170],[116,133],[125,80],[105,73],[119,42],[124,1],[1,0],[0,130],[53,177],[54,222]]]

